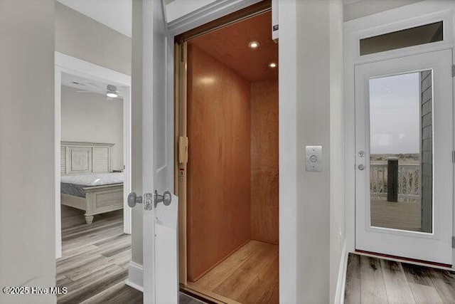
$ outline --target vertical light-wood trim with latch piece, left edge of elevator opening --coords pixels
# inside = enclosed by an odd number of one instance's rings
[[[180,41],[174,45],[174,189],[178,196],[178,277],[183,285],[187,283],[186,261],[186,177],[187,162],[179,159],[181,147],[180,137],[187,137],[187,108],[186,108],[186,42]],[[187,151],[188,152],[188,151]],[[188,159],[188,158],[187,158]]]

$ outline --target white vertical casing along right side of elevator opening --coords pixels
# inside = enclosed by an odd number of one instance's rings
[[[279,1],[279,302],[297,300],[296,2]],[[283,77],[283,75],[287,75]],[[285,102],[283,102],[285,100]],[[286,147],[286,149],[282,149]],[[285,203],[284,203],[285,202]],[[285,223],[285,225],[284,225]]]

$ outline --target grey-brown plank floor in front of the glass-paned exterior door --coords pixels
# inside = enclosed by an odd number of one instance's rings
[[[345,303],[455,303],[455,273],[349,253]]]

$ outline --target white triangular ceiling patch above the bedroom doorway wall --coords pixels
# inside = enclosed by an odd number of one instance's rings
[[[128,37],[132,28],[132,0],[57,0]]]

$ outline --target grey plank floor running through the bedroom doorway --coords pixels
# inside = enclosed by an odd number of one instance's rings
[[[131,236],[123,233],[122,210],[95,216],[62,206],[62,251],[57,285],[68,288],[58,303],[142,303],[142,293],[125,285]]]

